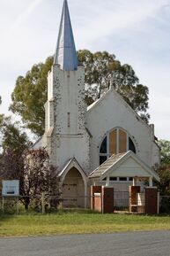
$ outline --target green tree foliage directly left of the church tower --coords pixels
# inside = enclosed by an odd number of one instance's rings
[[[33,65],[26,76],[19,76],[11,95],[11,112],[21,116],[26,128],[41,136],[44,131],[44,104],[47,101],[48,71],[53,63],[53,57],[47,58],[45,64]]]

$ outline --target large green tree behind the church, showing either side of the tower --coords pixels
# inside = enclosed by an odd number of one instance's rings
[[[144,120],[149,119],[148,88],[139,83],[131,66],[122,65],[115,59],[114,54],[109,54],[107,51],[92,53],[90,50],[78,50],[78,60],[85,66],[87,105],[91,105],[110,86],[113,86]],[[44,64],[33,65],[25,77],[18,77],[11,95],[10,110],[19,114],[26,128],[30,128],[38,136],[44,132],[47,76],[52,63],[53,57],[48,57]]]

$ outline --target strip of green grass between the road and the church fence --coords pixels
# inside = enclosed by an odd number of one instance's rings
[[[100,214],[68,211],[44,214],[0,214],[0,237],[111,233],[170,229],[170,216]]]

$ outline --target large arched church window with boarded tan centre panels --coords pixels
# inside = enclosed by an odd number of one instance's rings
[[[129,134],[121,128],[115,128],[107,133],[100,144],[100,165],[111,155],[126,151],[136,153],[136,147]]]

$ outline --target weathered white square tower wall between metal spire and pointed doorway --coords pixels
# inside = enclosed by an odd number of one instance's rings
[[[89,173],[89,135],[85,129],[85,70],[63,71],[55,65],[48,74],[47,145],[51,163],[60,169],[71,159]]]

